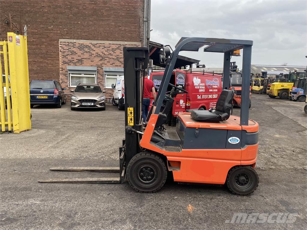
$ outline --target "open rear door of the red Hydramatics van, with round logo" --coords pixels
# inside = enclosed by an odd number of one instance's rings
[[[176,86],[182,89],[186,89],[186,75],[187,73],[185,71],[182,71],[180,69],[176,69],[175,71],[175,80],[176,80]],[[178,117],[179,113],[185,112],[185,104],[187,100],[187,94],[186,93],[179,93],[174,98],[174,104],[173,104],[173,116]]]

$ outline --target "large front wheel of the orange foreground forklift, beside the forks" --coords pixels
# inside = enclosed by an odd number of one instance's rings
[[[142,176],[144,178],[141,178]],[[165,184],[167,169],[160,156],[154,153],[141,152],[134,155],[130,160],[126,170],[126,177],[135,191],[154,193]]]

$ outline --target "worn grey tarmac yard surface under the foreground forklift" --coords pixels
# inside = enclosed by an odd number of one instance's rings
[[[305,103],[258,94],[251,100],[250,118],[260,126],[260,183],[243,197],[224,186],[172,181],[154,194],[137,193],[127,182],[38,183],[48,178],[118,176],[49,168],[118,166],[124,112],[112,105],[106,111],[35,106],[31,131],[0,135],[0,229],[305,229]],[[234,108],[234,115],[239,115],[239,108]],[[258,219],[232,223],[236,213]],[[270,218],[259,221],[259,213]]]

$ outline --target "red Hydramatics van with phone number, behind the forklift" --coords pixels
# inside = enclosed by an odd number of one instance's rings
[[[153,72],[150,80],[153,81],[156,92],[159,90],[164,72]],[[211,109],[215,107],[217,99],[222,92],[222,75],[188,72],[176,69],[170,79],[170,83],[183,88],[188,93],[177,94],[173,104],[173,117],[179,113],[190,112],[191,109]],[[167,91],[172,89],[169,86]],[[150,106],[153,102],[151,96]]]

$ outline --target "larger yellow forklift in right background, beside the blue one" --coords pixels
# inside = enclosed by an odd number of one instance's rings
[[[281,78],[280,82],[274,82],[271,84],[269,97],[276,98],[278,96],[283,100],[288,99],[295,80],[304,77],[305,75],[305,72],[297,71],[289,72],[288,75],[284,75],[285,77]]]

